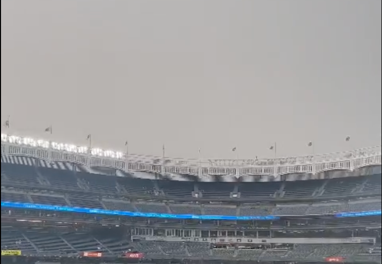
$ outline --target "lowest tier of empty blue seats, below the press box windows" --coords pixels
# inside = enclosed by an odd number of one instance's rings
[[[119,232],[118,234],[115,232]],[[60,233],[54,230],[17,229],[2,227],[2,249],[21,250],[26,255],[70,255],[81,252],[102,252],[105,256],[119,256],[128,250],[145,253],[148,257],[199,257],[243,260],[300,259],[323,257],[367,257],[380,259],[381,246],[367,244],[297,244],[285,248],[245,249],[216,248],[205,242],[131,242],[118,230],[99,232]]]

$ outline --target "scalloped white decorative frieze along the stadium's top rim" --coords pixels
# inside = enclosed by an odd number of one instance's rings
[[[205,160],[167,158],[145,155],[135,155],[97,148],[79,147],[68,144],[35,140],[2,134],[2,162],[11,162],[15,158],[27,158],[43,161],[44,164],[69,163],[91,168],[110,168],[121,172],[150,172],[172,176],[181,180],[180,175],[190,175],[201,181],[210,181],[209,177],[253,178],[267,177],[277,181],[288,175],[306,175],[306,179],[321,179],[314,177],[328,171],[347,171],[351,173],[358,169],[381,165],[381,147],[371,147],[341,153],[288,157],[276,159],[247,160]],[[139,178],[139,176],[138,176]],[[246,179],[248,178],[248,179]],[[249,179],[251,178],[251,179]]]

